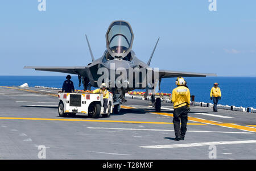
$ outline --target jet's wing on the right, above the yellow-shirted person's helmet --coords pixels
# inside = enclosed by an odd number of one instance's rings
[[[172,77],[206,77],[217,76],[213,73],[193,73],[193,72],[179,72],[171,70],[159,70],[159,78],[172,78]]]

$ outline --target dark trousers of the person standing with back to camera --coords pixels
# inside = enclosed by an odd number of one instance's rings
[[[181,121],[181,127],[180,127]],[[174,123],[174,132],[175,136],[185,137],[187,132],[187,122],[188,122],[188,110],[187,106],[178,107],[174,109],[174,119],[172,120]]]

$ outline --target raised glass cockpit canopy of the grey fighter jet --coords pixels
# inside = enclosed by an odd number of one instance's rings
[[[133,30],[128,22],[118,20],[106,32],[106,47],[114,58],[125,58],[133,45]]]

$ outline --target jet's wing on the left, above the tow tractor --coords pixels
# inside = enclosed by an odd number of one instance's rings
[[[79,74],[79,70],[85,69],[86,66],[24,66],[24,69],[35,69],[50,72],[61,72],[69,74]]]

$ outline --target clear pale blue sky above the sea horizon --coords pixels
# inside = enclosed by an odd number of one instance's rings
[[[127,20],[134,31],[133,50],[160,69],[256,76],[256,1],[61,1],[0,2],[0,75],[57,76],[63,73],[23,69],[34,66],[83,66],[106,49],[113,20]]]

